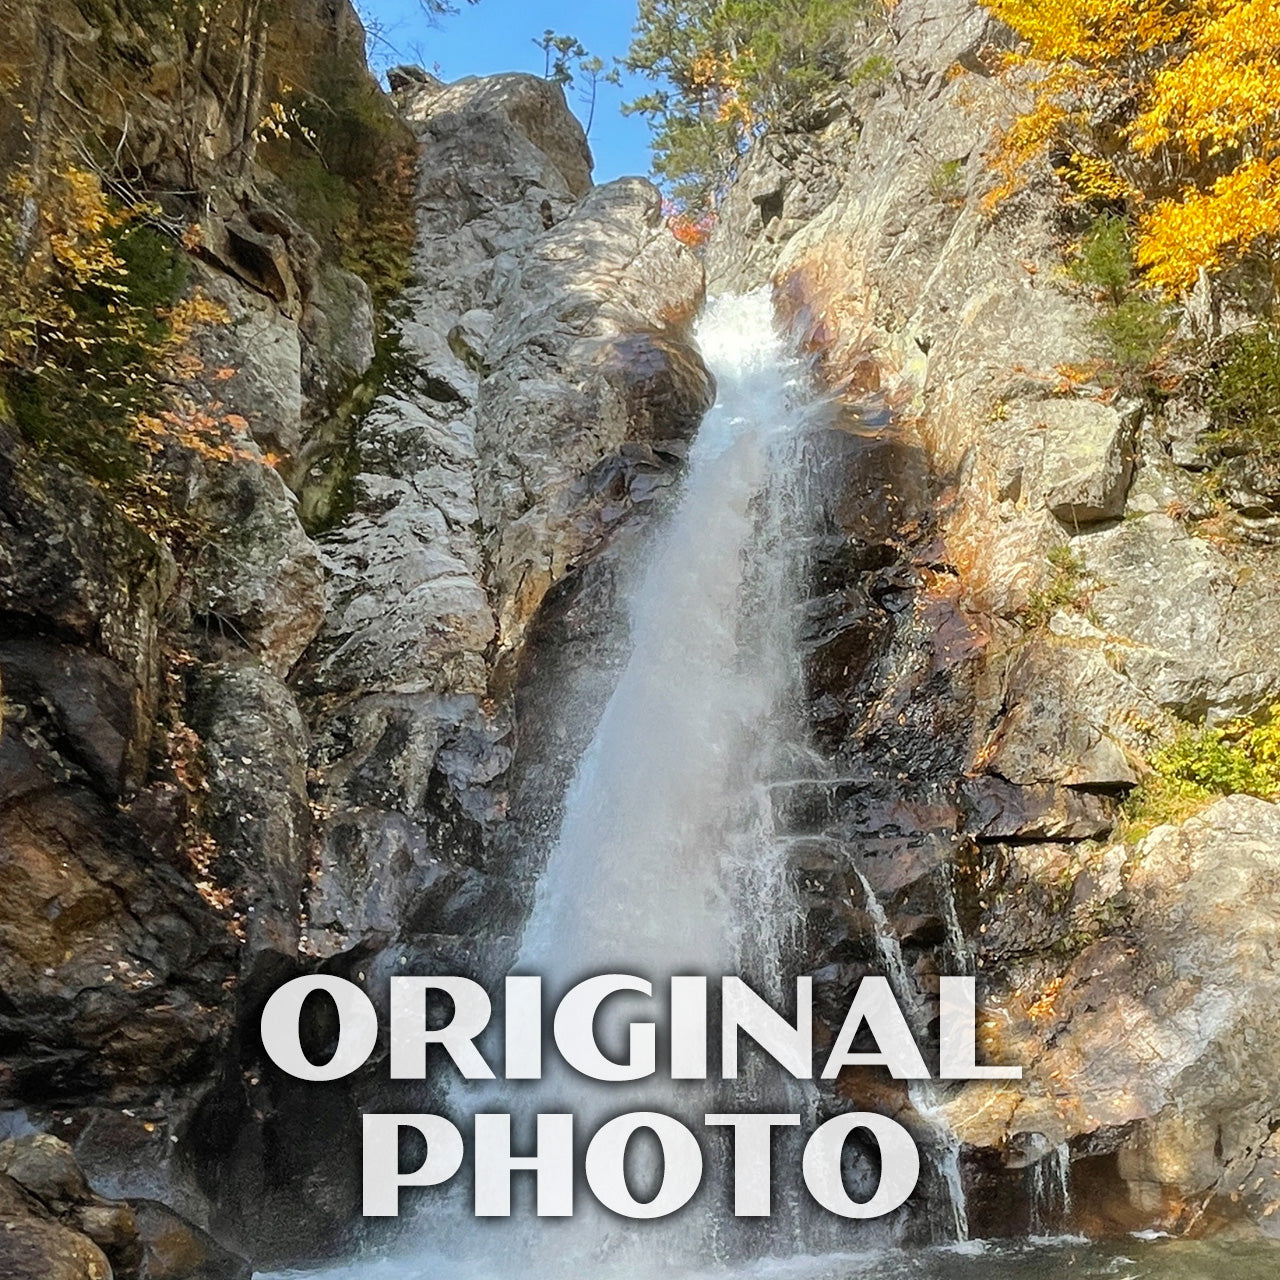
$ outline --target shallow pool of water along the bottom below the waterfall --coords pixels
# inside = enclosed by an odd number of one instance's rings
[[[262,1280],[531,1280],[508,1268],[416,1253],[365,1258],[323,1271],[278,1272]],[[1076,1236],[820,1257],[758,1258],[705,1271],[625,1268],[600,1261],[598,1276],[576,1280],[1277,1280],[1280,1242],[1249,1236],[1175,1240],[1160,1236],[1098,1243]]]

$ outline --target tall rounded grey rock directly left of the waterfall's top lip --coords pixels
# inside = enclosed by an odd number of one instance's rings
[[[709,407],[710,381],[687,343],[701,291],[658,191],[620,179],[539,239],[504,293],[477,435],[503,650],[599,536],[589,516],[599,498],[582,479],[628,440],[680,452]]]

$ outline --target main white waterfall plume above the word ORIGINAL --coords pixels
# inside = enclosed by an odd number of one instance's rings
[[[785,745],[794,677],[785,594],[799,539],[778,525],[797,369],[763,292],[713,302],[698,339],[718,399],[632,602],[631,654],[520,948],[517,968],[553,995],[623,961],[655,983],[749,969],[796,918],[762,772]]]

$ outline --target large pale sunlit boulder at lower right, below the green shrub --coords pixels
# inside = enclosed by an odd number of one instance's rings
[[[1015,899],[1010,882],[992,905],[982,946],[1005,1011],[986,1048],[1025,1079],[965,1085],[946,1107],[956,1132],[1007,1158],[1032,1135],[1106,1155],[1133,1224],[1172,1226],[1217,1198],[1267,1226],[1280,805],[1230,796],[1129,852],[1032,852],[1020,855],[1025,887]],[[1070,914],[1055,920],[1064,900]],[[1123,934],[1107,927],[1115,911]],[[1034,957],[1061,954],[1073,932],[1093,941],[1056,977],[1038,969]]]

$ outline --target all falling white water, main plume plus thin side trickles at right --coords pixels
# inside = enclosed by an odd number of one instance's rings
[[[579,763],[520,948],[517,968],[544,978],[548,1000],[577,978],[605,969],[644,974],[655,991],[664,975],[680,972],[739,973],[772,1000],[786,987],[786,957],[800,913],[786,841],[774,831],[771,783],[795,777],[797,764],[810,777],[822,772],[799,728],[792,635],[810,507],[797,408],[805,399],[804,379],[774,335],[764,296],[713,305],[699,340],[718,376],[719,399],[691,452],[680,500],[650,544],[631,611],[630,658]],[[938,893],[947,959],[952,972],[972,972],[946,859],[942,865]],[[919,987],[865,879],[861,890],[881,966],[923,1039]],[[680,1088],[691,1089],[684,1101]],[[509,1112],[518,1147],[532,1137],[532,1115],[547,1110],[573,1112],[584,1129],[614,1111],[652,1108],[678,1116],[712,1105],[801,1115],[812,1110],[812,1097],[790,1091],[778,1097],[780,1088],[772,1069],[746,1071],[723,1085],[653,1079],[598,1093],[581,1079],[552,1075],[530,1082],[525,1092],[518,1085],[458,1088],[451,1101],[463,1132],[468,1112]],[[955,1137],[937,1117],[936,1101],[927,1087],[913,1089],[915,1108],[932,1130],[923,1137],[936,1175],[936,1239],[955,1242],[968,1234],[964,1187]],[[781,1153],[776,1167],[786,1167]],[[1061,1148],[1029,1172],[1033,1230],[1061,1229],[1069,1219],[1068,1167],[1069,1153]],[[719,1174],[723,1183],[724,1170]],[[856,1179],[858,1170],[851,1174]],[[845,1224],[804,1219],[796,1203],[786,1203],[782,1187],[778,1193],[782,1203],[776,1203],[773,1217],[754,1226],[717,1212],[704,1184],[691,1206],[672,1219],[625,1228],[591,1212],[586,1196],[572,1219],[536,1219],[526,1203],[517,1207],[520,1216],[479,1221],[465,1190],[426,1193],[397,1248],[380,1247],[323,1276],[549,1280],[576,1271],[584,1280],[699,1274],[739,1280],[1101,1280],[1116,1274],[1105,1251],[1093,1251],[1082,1266],[1073,1245],[1055,1240],[1039,1242],[1030,1252],[1016,1244],[987,1244],[968,1253],[877,1248],[893,1238],[850,1235]],[[517,1206],[520,1199],[517,1180]],[[850,1243],[874,1252],[840,1252]],[[1135,1248],[1128,1242],[1126,1253],[1116,1258],[1129,1267]],[[713,1270],[726,1261],[732,1262],[730,1271]],[[1188,1280],[1206,1274],[1196,1262],[1190,1257],[1190,1270],[1178,1274]],[[1175,1274],[1164,1254],[1156,1263],[1153,1271],[1126,1274]]]

